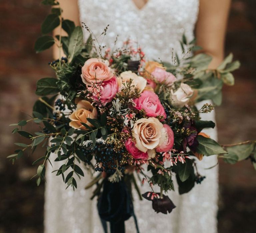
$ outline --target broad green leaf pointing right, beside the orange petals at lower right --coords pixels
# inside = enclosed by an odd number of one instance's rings
[[[224,154],[227,153],[219,143],[214,141],[211,138],[198,135],[196,139],[199,142],[199,145],[196,148],[196,152],[203,154],[205,156],[214,155],[214,154]]]

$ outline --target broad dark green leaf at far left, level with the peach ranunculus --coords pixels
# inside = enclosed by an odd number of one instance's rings
[[[43,78],[37,81],[36,95],[47,96],[53,95],[59,92],[57,87],[57,79],[55,78]]]

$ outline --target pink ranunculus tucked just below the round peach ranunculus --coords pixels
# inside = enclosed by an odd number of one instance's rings
[[[118,92],[119,86],[117,78],[114,76],[108,81],[104,81],[102,83],[103,90],[100,92],[100,101],[95,96],[93,99],[98,104],[102,104],[102,106],[106,106],[107,103],[111,102],[115,97],[116,93]]]

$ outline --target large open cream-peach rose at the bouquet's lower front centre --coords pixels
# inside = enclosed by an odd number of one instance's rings
[[[141,118],[137,120],[133,126],[133,137],[135,138],[135,146],[142,152],[151,152],[164,140],[163,124],[154,117]],[[149,155],[155,156],[155,153]]]

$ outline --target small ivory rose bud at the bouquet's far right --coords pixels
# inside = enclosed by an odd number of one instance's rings
[[[193,95],[193,90],[187,84],[182,83],[180,85],[180,88],[176,92],[173,92],[173,90],[171,90],[171,94],[172,105],[174,105],[177,108],[182,108],[189,102],[190,97]]]

